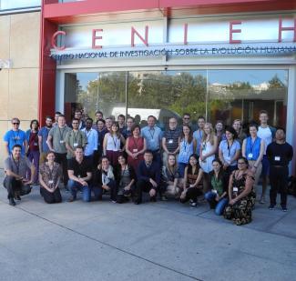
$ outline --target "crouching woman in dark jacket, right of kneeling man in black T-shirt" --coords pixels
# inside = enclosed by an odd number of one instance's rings
[[[107,156],[103,156],[97,170],[94,173],[93,186],[100,190],[98,199],[102,199],[103,192],[110,192],[110,199],[113,203],[117,202],[117,184],[113,174],[113,167],[109,164]]]

